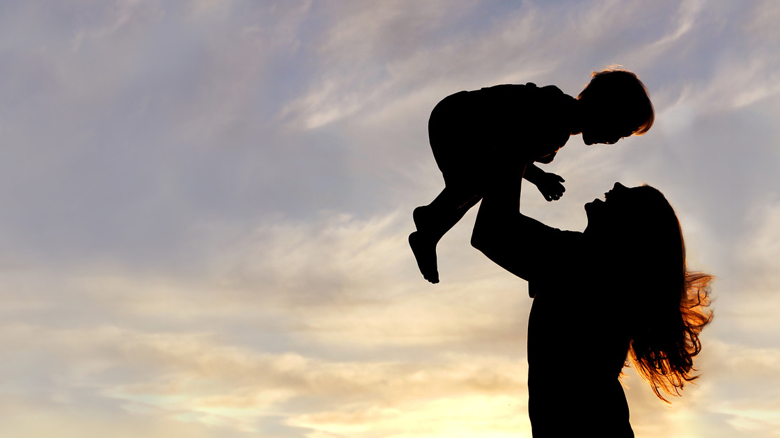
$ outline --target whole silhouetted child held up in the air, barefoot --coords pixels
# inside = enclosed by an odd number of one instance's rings
[[[581,133],[587,145],[612,144],[650,129],[653,105],[636,75],[610,68],[592,76],[576,99],[551,85],[498,85],[452,94],[431,111],[428,136],[445,189],[414,210],[417,231],[409,236],[427,281],[438,283],[436,244],[479,202],[485,172],[496,160],[518,168],[547,164],[569,136]],[[534,164],[525,178],[548,201],[565,191],[563,178]]]

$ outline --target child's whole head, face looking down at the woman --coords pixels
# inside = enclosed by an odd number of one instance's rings
[[[651,128],[655,120],[653,104],[647,87],[634,73],[611,66],[591,76],[577,96],[577,100],[587,103],[589,112],[583,129],[586,143],[615,143]]]

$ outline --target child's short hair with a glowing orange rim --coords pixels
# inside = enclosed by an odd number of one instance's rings
[[[641,136],[650,130],[655,120],[655,110],[647,87],[633,72],[610,65],[601,72],[593,72],[590,83],[577,99],[594,101],[597,108],[619,108],[619,118],[633,126],[633,133]]]

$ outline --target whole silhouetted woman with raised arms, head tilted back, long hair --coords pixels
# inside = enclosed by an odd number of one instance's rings
[[[634,436],[619,376],[679,395],[710,322],[711,276],[686,270],[682,231],[657,189],[620,183],[585,205],[583,232],[518,212],[517,171],[486,182],[472,245],[528,281],[528,412],[535,438]]]

